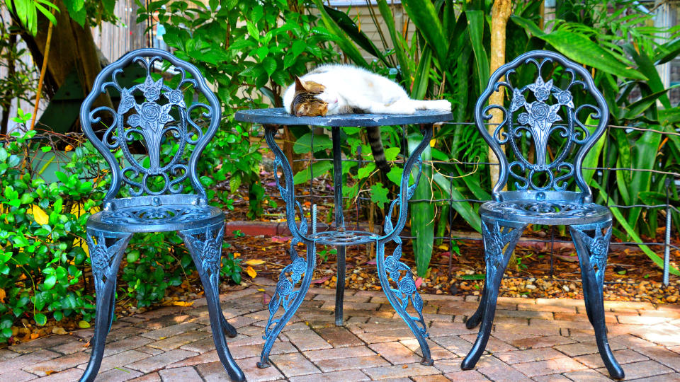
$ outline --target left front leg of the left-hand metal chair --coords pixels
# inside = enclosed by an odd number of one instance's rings
[[[106,335],[113,323],[115,306],[115,277],[123,257],[125,247],[132,233],[114,233],[87,229],[87,246],[92,265],[92,277],[96,296],[96,318],[94,337],[92,337],[92,353],[81,382],[91,382],[97,376],[101,359],[104,355]],[[94,241],[96,239],[96,243]],[[107,243],[108,242],[108,243]]]

